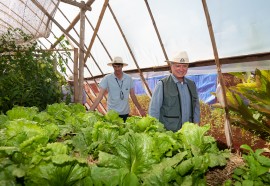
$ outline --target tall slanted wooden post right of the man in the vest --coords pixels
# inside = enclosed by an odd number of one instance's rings
[[[224,129],[225,129],[225,136],[226,136],[226,141],[227,141],[227,146],[232,147],[232,131],[231,131],[231,126],[230,126],[230,116],[229,116],[229,109],[228,109],[228,104],[227,104],[227,99],[226,99],[226,91],[225,91],[225,83],[223,80],[223,75],[221,72],[221,65],[219,62],[219,56],[218,56],[218,51],[217,51],[217,46],[216,46],[216,41],[215,41],[215,36],[214,36],[214,31],[212,28],[212,23],[210,19],[210,15],[208,12],[208,7],[206,4],[205,0],[202,0],[203,3],[203,8],[204,8],[204,13],[208,25],[208,30],[212,42],[212,47],[214,51],[214,56],[215,56],[215,63],[217,66],[217,74],[218,74],[218,80],[221,85],[221,92],[222,92],[222,97],[224,100],[224,109],[225,109],[225,123],[224,123]]]

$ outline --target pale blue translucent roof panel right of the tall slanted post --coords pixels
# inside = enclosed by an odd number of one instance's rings
[[[270,50],[270,1],[207,0],[220,57]]]

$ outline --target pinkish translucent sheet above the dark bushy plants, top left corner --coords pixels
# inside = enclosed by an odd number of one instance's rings
[[[59,0],[36,0],[49,15],[55,14]],[[9,28],[20,28],[34,38],[48,37],[51,22],[48,17],[31,0],[0,1],[0,34]]]

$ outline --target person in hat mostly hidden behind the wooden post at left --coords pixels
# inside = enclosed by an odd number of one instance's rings
[[[67,79],[68,84],[62,85],[63,100],[66,103],[74,103],[74,76],[69,75]],[[86,92],[83,90],[82,104],[86,104]]]

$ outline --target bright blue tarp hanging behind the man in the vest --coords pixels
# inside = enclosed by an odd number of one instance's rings
[[[157,82],[165,76],[155,76],[146,78],[150,90],[153,92]],[[201,101],[207,104],[213,104],[216,102],[215,96],[211,92],[216,91],[217,87],[217,74],[203,74],[203,75],[190,75],[187,78],[193,80],[196,83],[199,98]],[[146,94],[142,82],[140,79],[134,80],[134,89],[137,95]]]

